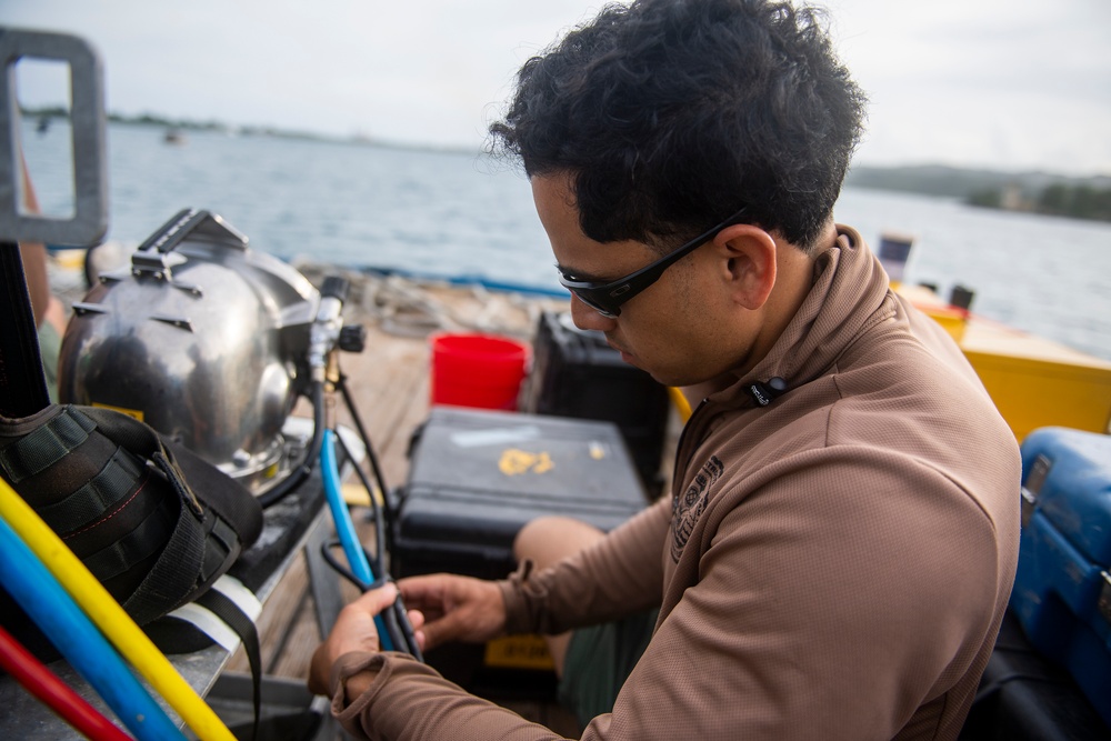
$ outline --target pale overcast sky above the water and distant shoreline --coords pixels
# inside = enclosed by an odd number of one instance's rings
[[[92,42],[113,112],[478,148],[521,62],[600,4],[0,0],[0,24]],[[1111,174],[1111,1],[823,4],[871,100],[859,163]]]

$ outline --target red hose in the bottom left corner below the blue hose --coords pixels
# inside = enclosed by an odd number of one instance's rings
[[[93,741],[132,741],[96,708],[42,665],[0,627],[0,667],[67,723]]]

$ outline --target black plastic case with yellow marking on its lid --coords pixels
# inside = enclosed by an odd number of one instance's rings
[[[608,531],[644,504],[610,422],[434,407],[410,450],[391,569],[501,579],[529,520],[564,514]]]

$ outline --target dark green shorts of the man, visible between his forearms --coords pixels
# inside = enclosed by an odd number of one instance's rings
[[[581,728],[594,717],[613,710],[621,685],[652,639],[659,612],[658,609],[640,612],[571,634],[559,682],[559,701],[574,713]]]

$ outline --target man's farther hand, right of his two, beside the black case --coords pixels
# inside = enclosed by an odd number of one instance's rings
[[[506,602],[492,581],[440,573],[401,579],[398,587],[406,607],[423,615],[422,627],[413,623],[421,650],[450,641],[481,643],[506,629]]]

